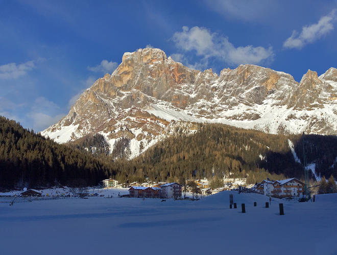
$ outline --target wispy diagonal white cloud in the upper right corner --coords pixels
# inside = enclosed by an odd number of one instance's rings
[[[332,10],[327,16],[323,16],[320,20],[311,25],[302,27],[302,32],[293,31],[292,36],[283,43],[284,48],[301,49],[306,44],[313,43],[333,30],[333,21],[336,19],[336,9]]]

